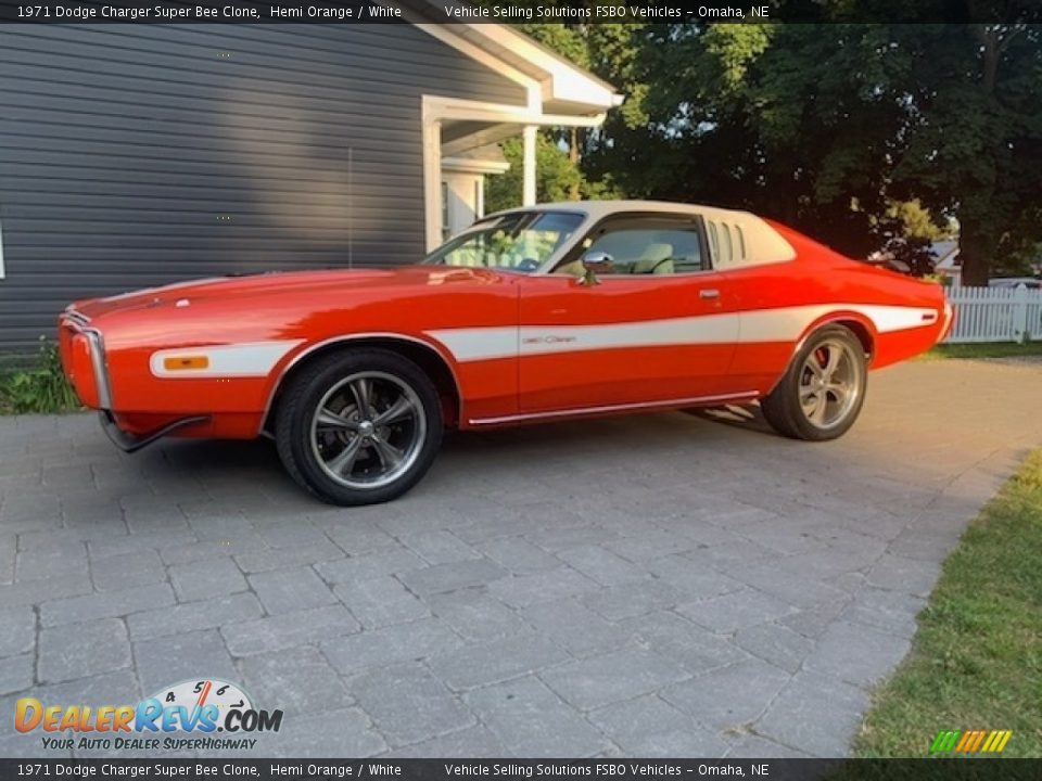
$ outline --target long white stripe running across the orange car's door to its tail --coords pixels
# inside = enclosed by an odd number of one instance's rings
[[[879,333],[924,328],[938,320],[937,310],[928,307],[813,304],[598,325],[440,329],[427,335],[445,345],[457,361],[468,362],[621,347],[795,342],[812,322],[839,311],[862,315]]]

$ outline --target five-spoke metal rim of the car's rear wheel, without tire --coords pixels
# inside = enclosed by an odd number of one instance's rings
[[[799,400],[803,417],[821,430],[840,425],[861,396],[861,363],[840,340],[815,345],[800,371]]]

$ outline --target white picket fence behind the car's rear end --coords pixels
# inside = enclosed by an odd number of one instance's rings
[[[949,344],[1042,340],[1042,290],[949,287],[955,327]]]

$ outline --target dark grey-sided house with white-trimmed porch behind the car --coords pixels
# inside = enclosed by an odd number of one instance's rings
[[[498,24],[0,28],[0,353],[71,300],[414,263],[482,214],[495,142],[621,103]],[[444,204],[444,208],[443,208]]]

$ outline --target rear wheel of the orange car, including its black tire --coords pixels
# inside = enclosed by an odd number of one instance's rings
[[[822,366],[822,360],[830,359],[833,350],[841,356],[840,362],[825,377],[829,364]],[[837,374],[841,374],[840,380],[831,382]],[[808,337],[778,384],[760,400],[760,408],[778,434],[792,439],[826,441],[846,434],[857,420],[867,385],[868,370],[861,341],[850,329],[826,325]]]

